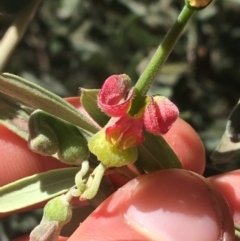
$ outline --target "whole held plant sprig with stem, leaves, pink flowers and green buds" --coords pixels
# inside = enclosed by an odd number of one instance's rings
[[[99,90],[81,89],[79,110],[25,79],[0,76],[1,124],[25,139],[32,151],[68,165],[1,187],[1,213],[50,199],[30,240],[57,240],[71,220],[72,199],[95,198],[99,204],[98,191],[111,185],[101,181],[113,170],[132,177],[182,167],[162,137],[178,118],[178,108],[147,92],[192,14],[210,3],[186,0],[136,84],[123,73],[107,78]]]

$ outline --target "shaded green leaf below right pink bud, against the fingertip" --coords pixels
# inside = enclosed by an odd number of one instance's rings
[[[145,172],[159,169],[182,168],[178,157],[162,136],[145,132],[145,141],[138,147],[138,164]]]

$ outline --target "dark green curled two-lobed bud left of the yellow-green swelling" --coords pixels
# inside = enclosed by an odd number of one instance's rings
[[[28,143],[34,152],[57,153],[67,164],[79,165],[89,156],[87,140],[75,125],[41,110],[30,116]]]

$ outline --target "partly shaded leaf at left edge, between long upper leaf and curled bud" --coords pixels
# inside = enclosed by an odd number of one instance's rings
[[[0,123],[14,133],[28,139],[28,119],[33,109],[0,93]]]

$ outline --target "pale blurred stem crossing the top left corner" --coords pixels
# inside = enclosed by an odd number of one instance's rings
[[[42,0],[31,1],[30,4],[21,10],[3,36],[0,44],[0,72],[3,71],[14,49],[22,39],[41,1]]]

